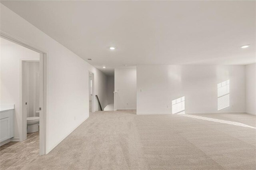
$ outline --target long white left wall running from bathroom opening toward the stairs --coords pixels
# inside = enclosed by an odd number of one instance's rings
[[[47,52],[46,152],[89,117],[88,71],[94,93],[107,103],[106,75],[0,4],[0,30]],[[102,98],[102,99],[101,99]],[[98,108],[98,103],[94,103]]]

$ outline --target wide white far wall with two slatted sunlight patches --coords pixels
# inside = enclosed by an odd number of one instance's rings
[[[244,112],[244,65],[137,65],[137,114],[171,114],[183,96],[186,113],[218,112],[217,84],[226,80],[230,107],[219,112]]]

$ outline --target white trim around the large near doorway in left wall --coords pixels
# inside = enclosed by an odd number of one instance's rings
[[[49,53],[47,50],[45,49],[42,49],[40,47],[37,47],[36,45],[34,44],[31,44],[29,42],[26,42],[25,40],[17,37],[17,36],[13,36],[13,35],[10,35],[6,32],[3,32],[2,30],[0,30],[0,37],[1,38],[4,38],[6,40],[9,40],[11,42],[14,42],[16,44],[19,44],[23,47],[26,47],[28,49],[31,49],[33,51],[36,51],[38,53],[40,53],[40,84],[42,84],[42,86],[40,87],[40,107],[42,108],[42,110],[40,111],[40,155],[44,155],[46,154],[46,150],[47,150],[47,147],[48,147],[48,138],[47,138],[47,135],[48,135],[48,128],[47,128],[47,124],[48,124],[48,84],[46,83],[48,77],[47,77],[47,74],[48,74],[48,70],[47,70],[47,67],[48,67],[48,59],[47,57],[49,56]],[[22,107],[22,105],[21,105]],[[24,127],[24,125],[22,126]],[[22,137],[22,136],[20,136]]]

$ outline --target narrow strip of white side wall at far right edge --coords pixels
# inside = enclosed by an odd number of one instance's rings
[[[246,70],[246,112],[256,115],[256,63],[245,66]]]

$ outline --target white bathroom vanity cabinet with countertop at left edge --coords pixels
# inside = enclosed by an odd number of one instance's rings
[[[14,105],[0,108],[0,142],[14,137]]]

